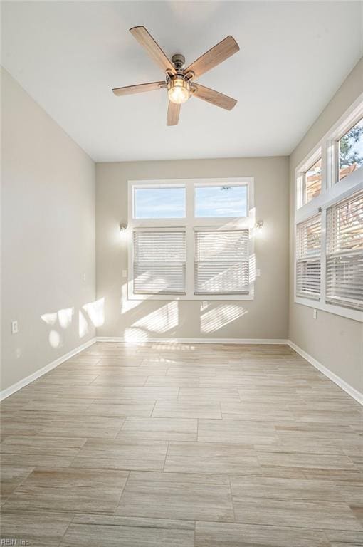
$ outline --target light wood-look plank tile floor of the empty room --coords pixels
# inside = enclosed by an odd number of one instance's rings
[[[287,346],[96,343],[0,408],[1,538],[363,546],[362,407]]]

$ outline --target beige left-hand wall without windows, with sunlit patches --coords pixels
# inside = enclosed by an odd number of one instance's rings
[[[4,389],[94,335],[86,311],[80,333],[78,314],[95,300],[95,166],[9,73],[1,76]]]

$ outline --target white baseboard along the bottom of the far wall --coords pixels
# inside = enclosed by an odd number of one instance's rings
[[[117,342],[130,345],[142,345],[144,343],[179,343],[179,344],[283,344],[288,340],[278,338],[147,338],[147,340],[131,341],[122,336],[98,336],[97,342]]]

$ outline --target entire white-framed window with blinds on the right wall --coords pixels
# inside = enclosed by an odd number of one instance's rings
[[[296,170],[295,301],[363,321],[363,105]]]

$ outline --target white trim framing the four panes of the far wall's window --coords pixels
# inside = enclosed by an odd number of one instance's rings
[[[253,177],[228,177],[211,179],[162,179],[162,180],[129,180],[127,187],[127,298],[129,300],[253,300],[256,260],[254,255],[254,230],[256,229],[256,214],[254,209],[254,179]],[[248,186],[247,217],[194,217],[194,187],[195,186]],[[179,219],[134,219],[133,218],[133,189],[134,188],[160,188],[160,187],[185,187],[186,191],[186,217]],[[206,229],[248,229],[250,231],[250,286],[248,294],[194,294],[194,228]],[[186,293],[169,294],[135,294],[133,292],[133,246],[132,232],[137,229],[161,229],[169,230],[185,229],[186,231]]]

